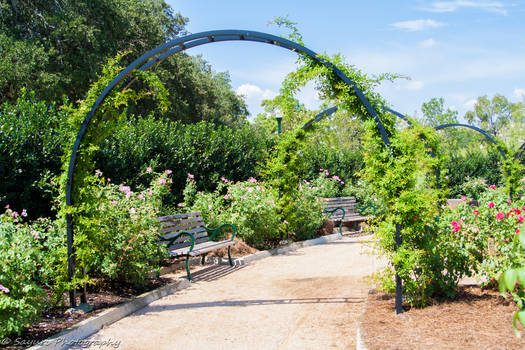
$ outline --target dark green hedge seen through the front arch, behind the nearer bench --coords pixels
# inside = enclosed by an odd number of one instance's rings
[[[180,202],[188,173],[196,174],[199,190],[213,191],[221,176],[243,181],[257,175],[269,140],[253,127],[240,129],[212,123],[182,124],[153,116],[127,118],[104,140],[97,167],[117,183],[146,185],[137,177],[150,164],[173,169],[167,201]]]

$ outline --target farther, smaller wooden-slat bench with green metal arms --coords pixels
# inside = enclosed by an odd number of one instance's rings
[[[343,223],[353,223],[354,230],[357,231],[357,225],[360,222],[375,217],[363,215],[365,209],[371,207],[374,210],[374,215],[376,213],[376,207],[373,204],[360,208],[355,197],[321,198],[321,203],[324,212],[330,214],[330,220],[336,223],[339,222],[339,234],[341,236],[343,235]]]

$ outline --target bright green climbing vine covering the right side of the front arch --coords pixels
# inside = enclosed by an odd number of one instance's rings
[[[302,40],[294,23],[287,19],[276,23],[292,29],[289,39]],[[393,292],[397,273],[412,305],[424,305],[438,294],[452,296],[463,274],[464,257],[452,256],[455,251],[447,249],[446,237],[440,237],[441,231],[434,225],[446,198],[446,188],[438,186],[435,175],[436,169],[446,175],[443,168],[446,156],[441,152],[439,138],[433,129],[416,122],[409,128],[398,128],[396,117],[384,112],[388,104],[375,88],[383,81],[400,76],[390,73],[368,76],[345,63],[340,55],[323,55],[323,59],[350,77],[363,92],[384,125],[390,144],[385,144],[375,116],[363,105],[356,91],[331,69],[307,56],[300,55],[298,68],[286,77],[281,94],[294,96],[313,81],[323,100],[337,104],[363,122],[361,144],[365,167],[361,176],[386,200],[389,208],[388,214],[373,227],[374,249],[388,260],[387,267],[377,273],[374,280],[380,288]],[[396,227],[402,230],[400,247],[396,246]]]

